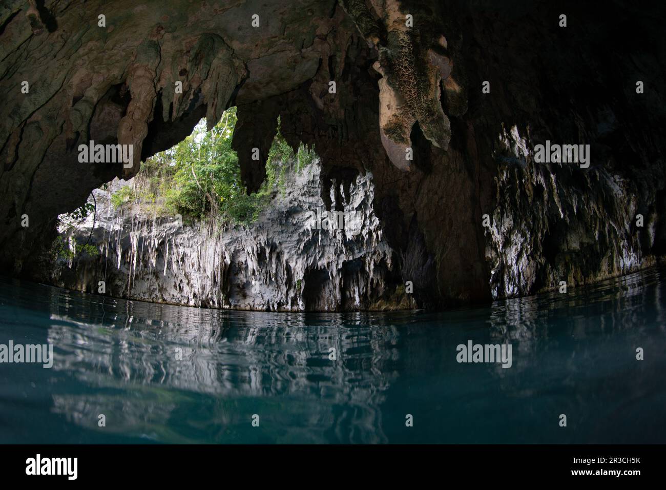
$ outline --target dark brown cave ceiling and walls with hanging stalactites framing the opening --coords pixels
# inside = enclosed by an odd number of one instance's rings
[[[579,2],[563,28],[545,0],[9,0],[0,264],[35,277],[57,215],[236,105],[250,192],[277,117],[292,147],[316,147],[326,205],[372,172],[420,306],[645,267],[666,251],[658,7]],[[135,165],[79,163],[90,140],[135,145]],[[589,144],[591,165],[533,161],[547,140]]]

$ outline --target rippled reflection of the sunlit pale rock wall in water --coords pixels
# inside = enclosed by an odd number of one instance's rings
[[[92,326],[77,322],[74,311],[74,318],[53,313],[54,368],[99,392],[59,395],[57,413],[89,429],[98,429],[97,415],[104,413],[107,427],[100,430],[185,442],[163,431],[171,430],[165,427],[174,417],[186,425],[194,410],[207,423],[188,427],[188,434],[202,430],[202,440],[219,433],[214,439],[228,441],[270,405],[264,430],[243,441],[268,434],[280,441],[322,442],[324,432],[332,432],[340,441],[386,442],[379,405],[396,376],[390,365],[397,357],[395,327],[345,328],[338,319],[304,329],[302,316],[239,318],[238,312],[231,325],[226,312],[177,307],[163,308],[172,309],[166,315],[185,313],[181,319],[145,320],[141,315],[155,306],[131,311],[135,305],[127,303],[130,311],[113,308],[111,321]],[[336,361],[329,359],[330,347]],[[176,349],[182,349],[182,360]]]

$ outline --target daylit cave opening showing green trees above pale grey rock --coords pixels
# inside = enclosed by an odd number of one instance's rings
[[[278,117],[264,182],[247,193],[233,148],[237,121],[236,107],[210,131],[202,119],[137,175],[113,179],[61,215],[45,277],[91,293],[216,308],[414,307],[392,299],[400,277],[372,209],[372,174],[329,177],[324,201],[320,158],[302,143],[294,151]]]

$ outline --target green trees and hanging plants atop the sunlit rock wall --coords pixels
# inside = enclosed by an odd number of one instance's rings
[[[235,125],[235,107],[226,110],[210,131],[205,120],[200,121],[190,136],[147,159],[139,174],[113,193],[111,203],[116,208],[131,205],[159,214],[180,214],[186,222],[218,219],[250,225],[274,192],[284,189],[286,173],[300,171],[316,155],[304,147],[294,155],[278,128],[266,162],[266,181],[257,193],[247,195],[231,147]]]

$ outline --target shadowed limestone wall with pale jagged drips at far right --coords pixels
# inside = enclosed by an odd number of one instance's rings
[[[497,207],[486,231],[494,298],[585,285],[653,265],[654,189],[601,165],[535,161],[529,133],[503,131]],[[649,173],[663,185],[663,169]],[[645,194],[647,193],[647,195]],[[658,252],[657,252],[658,253]]]

